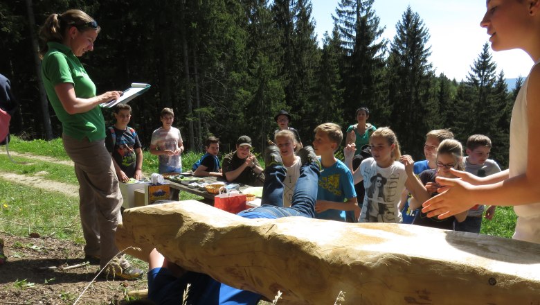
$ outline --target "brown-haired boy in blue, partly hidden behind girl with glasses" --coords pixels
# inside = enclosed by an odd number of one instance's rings
[[[437,159],[437,149],[439,144],[446,140],[453,139],[453,133],[447,129],[431,130],[426,134],[426,142],[424,143],[425,160],[415,162],[413,172],[415,175],[420,175],[427,169],[437,168],[435,161]],[[409,204],[413,200],[411,193],[407,190],[402,194],[402,201],[399,204],[399,211],[402,211],[403,223],[411,224],[415,219],[418,209],[411,209]]]

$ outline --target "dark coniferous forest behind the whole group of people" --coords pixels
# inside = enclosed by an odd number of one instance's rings
[[[424,157],[426,132],[450,128],[464,144],[471,134],[490,137],[491,157],[506,168],[510,112],[523,80],[507,87],[488,44],[478,45],[465,79],[435,75],[422,16],[406,8],[387,41],[374,1],[341,0],[328,12],[334,29],[322,44],[309,0],[0,1],[0,73],[21,104],[11,132],[60,137],[38,78],[37,33],[51,13],[79,8],[102,28],[94,51],[81,58],[98,94],[152,85],[129,103],[145,147],[163,107],[174,109],[190,150],[213,134],[226,152],[248,134],[260,152],[281,109],[307,144],[316,125],[332,121],[345,130],[365,105],[369,122],[395,130],[402,152],[415,159]],[[111,111],[103,112],[111,123]]]

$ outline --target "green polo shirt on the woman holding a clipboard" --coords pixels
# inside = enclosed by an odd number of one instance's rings
[[[53,105],[56,116],[62,122],[62,132],[75,139],[87,137],[90,141],[105,139],[105,120],[99,106],[88,112],[69,114],[56,95],[55,86],[70,82],[78,98],[96,96],[96,85],[84,71],[79,59],[71,49],[58,42],[48,42],[48,52],[43,57],[42,79],[48,101]]]

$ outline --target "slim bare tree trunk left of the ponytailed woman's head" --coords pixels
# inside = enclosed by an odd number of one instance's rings
[[[32,41],[32,53],[34,55],[34,65],[35,65],[35,74],[37,77],[37,85],[39,86],[39,104],[42,109],[43,116],[43,127],[45,130],[45,138],[47,140],[53,139],[53,128],[51,127],[51,118],[48,114],[48,101],[47,94],[45,92],[45,87],[42,81],[41,73],[41,63],[42,60],[39,58],[37,53],[37,37],[35,35],[35,18],[34,18],[34,8],[32,6],[32,0],[26,0],[26,12],[28,13],[28,30],[30,31],[30,40]]]

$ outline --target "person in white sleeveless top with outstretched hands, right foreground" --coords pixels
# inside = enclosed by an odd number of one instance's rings
[[[480,26],[494,51],[521,49],[535,62],[512,110],[508,169],[487,177],[453,171],[460,180],[437,179],[437,195],[424,202],[428,216],[447,218],[475,204],[514,205],[513,238],[540,243],[540,1],[487,1]]]

